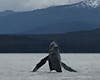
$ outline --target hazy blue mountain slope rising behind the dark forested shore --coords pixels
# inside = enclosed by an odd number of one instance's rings
[[[0,16],[0,34],[65,33],[98,27],[100,7],[84,1]]]

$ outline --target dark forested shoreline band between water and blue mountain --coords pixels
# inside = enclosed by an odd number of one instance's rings
[[[1,53],[47,53],[55,40],[62,53],[100,53],[100,29],[45,35],[0,35]]]

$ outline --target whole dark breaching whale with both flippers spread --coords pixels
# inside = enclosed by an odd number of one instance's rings
[[[40,60],[38,64],[34,67],[32,72],[36,72],[39,68],[41,68],[47,61],[49,64],[50,71],[55,70],[56,72],[62,72],[62,68],[69,72],[77,72],[71,67],[67,66],[64,62],[61,61],[59,46],[56,41],[52,41],[49,44],[49,55]]]

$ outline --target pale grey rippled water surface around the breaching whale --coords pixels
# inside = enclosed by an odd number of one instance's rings
[[[34,66],[48,54],[0,54],[0,80],[100,80],[100,54],[61,54],[62,61],[77,70],[50,72],[48,63]]]

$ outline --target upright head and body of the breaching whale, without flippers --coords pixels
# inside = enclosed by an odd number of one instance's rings
[[[55,70],[57,72],[62,72],[59,47],[55,41],[51,42],[49,45],[48,63],[49,63],[50,71]]]

